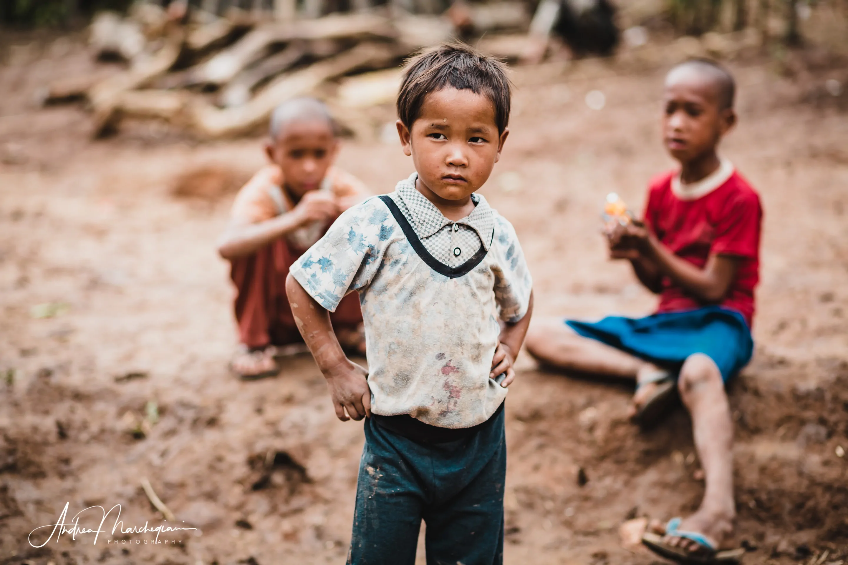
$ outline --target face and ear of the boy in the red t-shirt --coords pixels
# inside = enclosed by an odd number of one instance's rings
[[[719,87],[711,79],[689,67],[672,70],[666,79],[663,142],[684,165],[715,151],[736,119],[732,108],[721,108]]]

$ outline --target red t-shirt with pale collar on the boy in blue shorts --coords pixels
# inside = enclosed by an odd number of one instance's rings
[[[734,172],[715,190],[695,200],[682,200],[672,191],[676,173],[661,174],[650,183],[644,220],[657,239],[679,258],[700,269],[710,255],[741,258],[736,277],[722,307],[754,318],[754,288],[760,280],[762,207],[756,191]],[[657,312],[679,312],[705,306],[668,277],[662,279]]]

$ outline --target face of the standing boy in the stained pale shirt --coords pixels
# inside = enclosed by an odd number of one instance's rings
[[[467,89],[427,94],[412,129],[397,125],[419,180],[444,200],[462,200],[483,186],[509,135],[498,133],[492,102]]]

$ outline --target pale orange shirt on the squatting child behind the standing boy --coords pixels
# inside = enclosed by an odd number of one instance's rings
[[[282,170],[275,164],[269,164],[259,169],[253,178],[248,180],[236,195],[232,203],[232,218],[247,224],[258,224],[265,220],[276,218],[294,208],[294,202],[283,190]],[[350,201],[370,196],[365,185],[353,174],[331,167],[321,181],[319,191],[330,192],[337,198]],[[321,239],[330,222],[315,222],[293,231],[287,239],[295,246],[307,249],[315,241]]]

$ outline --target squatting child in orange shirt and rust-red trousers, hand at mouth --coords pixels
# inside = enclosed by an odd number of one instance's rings
[[[283,102],[271,116],[265,152],[271,163],[238,192],[218,252],[232,263],[241,347],[232,370],[243,379],[279,372],[279,346],[300,341],[285,294],[288,269],[333,220],[367,195],[350,174],[332,167],[338,139],[332,117],[313,98]],[[339,339],[364,352],[355,296],[333,313]]]

